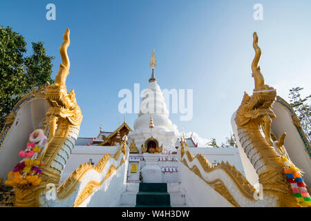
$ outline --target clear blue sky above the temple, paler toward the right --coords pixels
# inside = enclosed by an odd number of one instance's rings
[[[56,6],[56,20],[46,20],[46,5]],[[255,21],[255,3],[263,20]],[[32,41],[44,41],[55,56],[53,77],[61,58],[59,46],[70,29],[68,90],[75,89],[84,119],[79,136],[95,137],[103,124],[113,131],[122,123],[118,112],[122,88],[141,90],[151,75],[151,50],[156,50],[158,84],[167,89],[194,89],[194,117],[180,122],[181,131],[225,140],[230,119],[251,94],[254,79],[252,33],[263,52],[260,66],[266,84],[288,99],[292,87],[311,93],[311,1],[1,1],[0,25],[10,26]],[[133,128],[137,114],[126,115]]]

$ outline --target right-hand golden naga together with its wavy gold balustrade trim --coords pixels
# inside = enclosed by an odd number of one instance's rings
[[[277,206],[300,206],[296,202],[286,177],[283,174],[283,169],[287,168],[288,165],[294,166],[283,146],[285,134],[281,135],[276,142],[273,142],[271,139],[271,122],[275,117],[272,111],[272,104],[276,99],[276,90],[265,84],[261,69],[258,66],[258,61],[261,57],[261,49],[258,47],[256,32],[254,33],[253,46],[256,52],[252,62],[252,77],[254,77],[255,88],[252,96],[245,93],[241,106],[236,113],[235,121],[238,126],[238,138],[247,157],[256,169],[259,182],[263,184],[265,202],[269,204],[269,200],[273,201],[276,199]],[[238,191],[249,201],[249,204],[254,204],[254,201],[256,201],[254,200],[254,187],[247,182],[245,177],[237,171],[234,166],[229,165],[228,162],[222,162],[212,167],[202,155],[196,155],[196,157],[194,157],[194,155],[189,152],[189,149],[185,151],[186,144],[183,143],[184,142],[181,143],[180,153],[185,166],[189,168],[186,158],[189,162],[197,158],[205,173],[210,173],[217,169],[225,171],[232,182],[234,182]],[[281,159],[280,153],[285,156],[283,160]],[[200,171],[198,166],[193,166],[189,169],[207,182],[207,184],[213,186],[214,189],[223,193],[222,195],[229,202],[236,205],[236,200],[225,191],[227,187],[225,186],[224,188],[221,186],[221,180],[205,180],[202,176],[203,171]],[[215,184],[218,185],[215,186]]]

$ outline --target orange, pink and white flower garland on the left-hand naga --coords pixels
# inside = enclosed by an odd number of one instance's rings
[[[24,151],[19,152],[23,157],[12,171],[8,173],[8,186],[37,186],[41,182],[39,175],[42,173],[44,164],[38,160],[38,154],[46,148],[47,138],[41,129],[35,130],[29,135],[29,142]]]

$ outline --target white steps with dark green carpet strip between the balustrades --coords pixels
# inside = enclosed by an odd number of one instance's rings
[[[159,205],[160,202],[161,204]],[[150,184],[128,182],[126,183],[126,192],[121,195],[120,206],[133,207],[136,205],[147,207],[187,206],[185,202],[185,193],[182,193],[180,183]]]

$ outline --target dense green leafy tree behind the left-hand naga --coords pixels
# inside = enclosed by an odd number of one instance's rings
[[[19,99],[46,81],[53,84],[54,57],[46,55],[41,41],[32,42],[33,55],[28,57],[26,46],[22,35],[0,26],[0,128]]]

